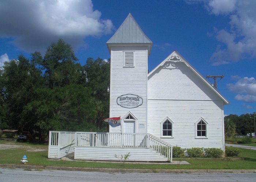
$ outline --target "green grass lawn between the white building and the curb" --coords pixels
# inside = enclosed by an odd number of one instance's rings
[[[48,151],[27,151],[28,149],[48,150],[47,144],[33,144],[27,142],[3,141],[0,144],[19,145],[19,148],[2,149],[0,147],[1,164],[20,164],[24,154],[27,156],[28,165],[38,166],[66,166],[90,168],[116,168],[116,169],[256,169],[256,150],[241,149],[240,155],[234,161],[209,158],[182,158],[174,161],[188,161],[190,165],[166,164],[134,164],[134,163],[103,163],[87,161],[49,160]],[[23,165],[23,164],[20,164]],[[26,164],[25,164],[26,165]]]

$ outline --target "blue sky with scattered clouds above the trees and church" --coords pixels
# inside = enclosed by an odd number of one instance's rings
[[[148,70],[177,50],[203,76],[225,75],[224,114],[256,111],[255,0],[0,0],[0,66],[44,54],[59,38],[83,65],[108,59],[106,42],[129,13],[153,42]],[[209,79],[211,83],[214,80]]]

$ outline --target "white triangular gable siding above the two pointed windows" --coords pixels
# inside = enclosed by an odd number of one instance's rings
[[[220,100],[185,62],[166,62],[148,78],[148,99]]]

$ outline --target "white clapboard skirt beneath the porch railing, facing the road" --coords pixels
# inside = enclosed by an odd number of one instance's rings
[[[75,159],[119,161],[115,155],[121,157],[130,153],[127,161],[168,161],[159,153],[149,148],[113,148],[113,147],[75,147]]]

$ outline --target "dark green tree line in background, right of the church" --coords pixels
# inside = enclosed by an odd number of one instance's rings
[[[256,115],[256,114],[255,114]],[[242,114],[240,116],[230,114],[225,116],[225,138],[233,138],[236,135],[246,135],[254,132],[254,114]]]

